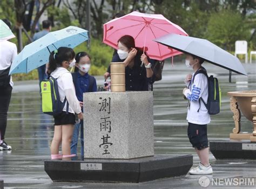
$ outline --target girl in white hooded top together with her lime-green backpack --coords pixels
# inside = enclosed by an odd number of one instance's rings
[[[80,120],[83,113],[77,100],[72,75],[68,68],[75,63],[75,52],[72,48],[59,47],[49,57],[49,79],[41,82],[42,108],[46,114],[53,115],[55,122],[51,143],[51,159],[70,159],[70,142],[75,124],[75,113]],[[59,145],[62,143],[62,155]]]

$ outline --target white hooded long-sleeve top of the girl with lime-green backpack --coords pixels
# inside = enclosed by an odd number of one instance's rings
[[[57,79],[60,101],[63,102],[66,97],[66,100],[69,102],[69,112],[73,114],[81,113],[82,110],[76,97],[76,90],[73,85],[72,75],[68,69],[58,67],[51,73],[51,76]],[[66,111],[66,103],[63,111]]]

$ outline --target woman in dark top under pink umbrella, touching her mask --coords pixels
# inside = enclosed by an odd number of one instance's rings
[[[135,46],[132,36],[126,35],[118,40],[118,50],[112,62],[125,64],[126,91],[149,90],[149,85],[154,83],[156,76],[151,69],[150,59],[145,53],[143,54],[143,50]],[[110,73],[110,68],[107,72]]]

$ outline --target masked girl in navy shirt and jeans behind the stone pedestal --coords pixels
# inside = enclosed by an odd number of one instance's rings
[[[76,96],[80,104],[83,104],[83,93],[97,92],[97,83],[95,77],[89,75],[91,67],[91,57],[86,52],[79,52],[76,55],[76,68],[72,73],[73,83],[76,89]],[[83,110],[83,108],[82,108]],[[84,125],[83,121],[75,124],[71,142],[71,153],[77,154],[77,143],[80,132],[81,156],[84,156]]]

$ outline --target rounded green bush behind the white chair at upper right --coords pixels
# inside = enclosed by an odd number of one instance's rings
[[[223,10],[211,15],[205,37],[212,43],[232,51],[236,40],[248,40],[250,31],[238,12]]]

